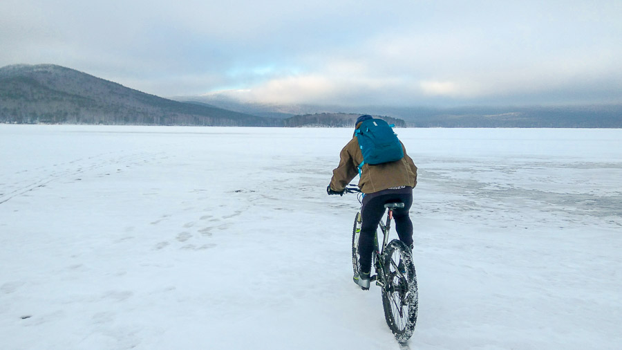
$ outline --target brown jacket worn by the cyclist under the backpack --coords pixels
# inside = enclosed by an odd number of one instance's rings
[[[357,125],[359,127],[361,124]],[[361,178],[359,179],[359,188],[363,193],[373,193],[386,190],[390,187],[417,185],[417,167],[411,157],[406,154],[404,149],[404,158],[395,162],[363,165],[361,169]],[[356,136],[348,142],[346,147],[341,149],[339,154],[339,166],[332,171],[332,179],[330,180],[330,188],[335,191],[342,191],[355,176],[359,174],[359,164],[363,161],[363,154],[359,147],[359,140]]]

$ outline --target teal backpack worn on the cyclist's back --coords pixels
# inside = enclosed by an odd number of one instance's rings
[[[404,158],[402,143],[393,132],[393,127],[395,125],[388,125],[384,120],[376,118],[361,122],[361,126],[355,131],[363,154],[363,161],[359,164],[359,176],[365,163],[377,165]]]

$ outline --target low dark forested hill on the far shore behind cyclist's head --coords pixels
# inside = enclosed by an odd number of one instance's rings
[[[357,118],[361,114],[352,113],[315,113],[302,116],[293,116],[283,120],[285,127],[354,127]],[[402,119],[386,116],[375,116],[381,118],[395,127],[406,127],[406,122]]]

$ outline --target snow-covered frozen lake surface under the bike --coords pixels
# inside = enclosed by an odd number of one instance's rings
[[[621,129],[397,132],[411,349],[622,348]],[[399,349],[326,195],[351,136],[0,125],[0,348]]]

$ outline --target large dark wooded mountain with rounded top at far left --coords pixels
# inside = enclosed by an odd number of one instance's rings
[[[281,126],[273,118],[168,100],[53,64],[0,68],[0,122]]]

